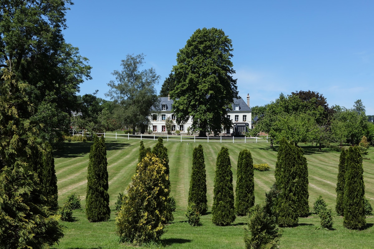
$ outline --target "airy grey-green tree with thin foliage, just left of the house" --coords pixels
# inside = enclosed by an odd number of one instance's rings
[[[152,107],[157,108],[157,94],[154,88],[160,75],[153,68],[143,69],[144,54],[127,55],[122,60],[122,70],[114,70],[116,80],[108,83],[110,90],[105,94],[118,105],[125,125],[132,127],[132,134],[149,123]]]

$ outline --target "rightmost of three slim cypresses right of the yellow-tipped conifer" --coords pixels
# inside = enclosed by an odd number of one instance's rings
[[[244,216],[249,208],[255,204],[254,195],[254,177],[253,160],[251,152],[242,150],[239,152],[237,162],[237,181],[236,181],[236,214]]]

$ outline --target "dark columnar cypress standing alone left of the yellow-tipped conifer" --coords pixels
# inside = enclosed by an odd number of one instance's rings
[[[110,218],[105,138],[93,137],[87,174],[86,215],[90,222]]]

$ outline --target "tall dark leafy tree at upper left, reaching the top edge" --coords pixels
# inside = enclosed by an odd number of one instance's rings
[[[11,68],[28,84],[25,94],[35,108],[24,115],[41,124],[39,136],[51,143],[61,137],[56,128],[69,127],[79,84],[91,78],[88,59],[62,35],[69,4],[70,0],[0,1],[0,67]]]

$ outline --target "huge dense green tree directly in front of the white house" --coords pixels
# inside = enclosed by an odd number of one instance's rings
[[[199,136],[212,131],[220,133],[222,125],[232,126],[227,118],[230,103],[238,91],[232,55],[231,40],[222,29],[197,29],[183,49],[177,53],[173,67],[175,88],[170,93],[177,123],[193,118],[192,130]]]

